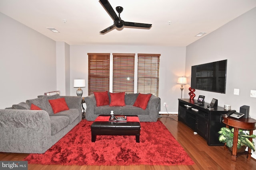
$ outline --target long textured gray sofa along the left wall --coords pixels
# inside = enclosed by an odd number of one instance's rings
[[[48,100],[63,97],[69,109],[54,114]],[[0,152],[44,153],[82,120],[81,102],[56,94],[0,109]],[[42,110],[30,110],[31,104]]]

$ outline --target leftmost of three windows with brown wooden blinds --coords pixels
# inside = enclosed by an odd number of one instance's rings
[[[88,95],[109,91],[110,53],[88,53]]]

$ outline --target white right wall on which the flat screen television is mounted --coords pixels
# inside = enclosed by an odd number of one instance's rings
[[[192,65],[228,59],[226,94],[196,90],[196,98],[204,95],[208,103],[216,98],[219,106],[230,104],[238,112],[241,106],[250,106],[250,117],[256,119],[256,98],[250,97],[250,90],[256,90],[255,30],[256,8],[187,46],[186,76],[189,80]],[[239,96],[234,95],[234,88],[240,89]]]

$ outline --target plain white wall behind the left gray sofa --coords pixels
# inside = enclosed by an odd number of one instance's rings
[[[2,13],[0,25],[0,108],[55,91],[55,41]]]

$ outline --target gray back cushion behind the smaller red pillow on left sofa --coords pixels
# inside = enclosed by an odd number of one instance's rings
[[[31,107],[31,104],[34,104],[38,107],[40,107],[42,110],[47,111],[47,113],[53,114],[52,107],[46,98],[36,98],[36,99],[30,99],[26,100],[26,103],[28,104],[29,108]]]

